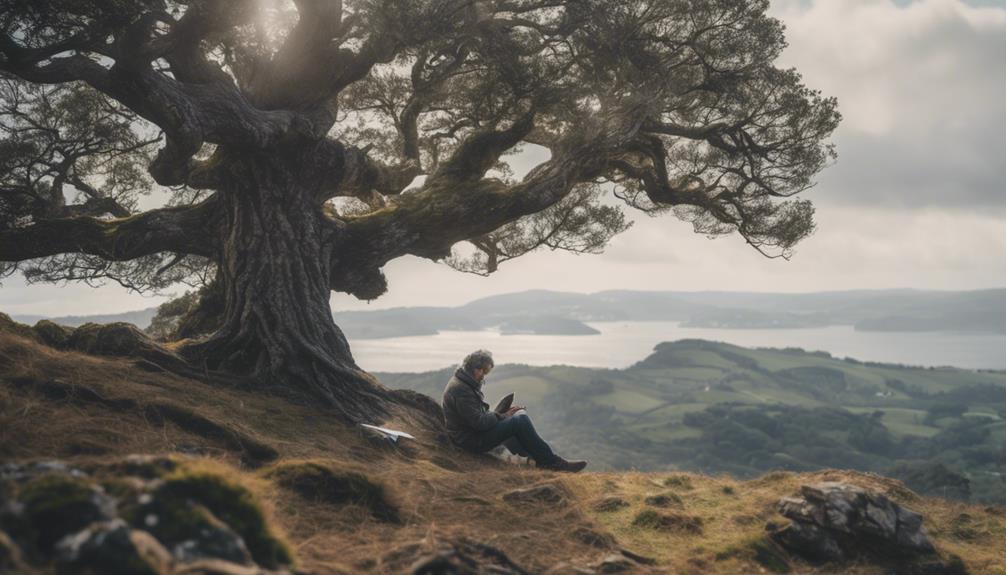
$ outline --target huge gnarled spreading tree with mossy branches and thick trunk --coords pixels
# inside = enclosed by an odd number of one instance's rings
[[[221,324],[184,355],[372,414],[329,297],[377,298],[391,259],[598,251],[622,205],[770,256],[813,231],[790,196],[839,115],[776,66],[768,4],[0,0],[0,261],[215,275]]]

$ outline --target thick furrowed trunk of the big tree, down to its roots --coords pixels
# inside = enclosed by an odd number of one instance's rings
[[[337,230],[297,152],[227,162],[227,187],[218,192],[222,324],[185,355],[265,387],[320,398],[350,421],[380,417],[388,391],[356,365],[332,320],[330,235]]]

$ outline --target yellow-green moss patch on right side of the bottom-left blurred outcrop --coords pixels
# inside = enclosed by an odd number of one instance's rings
[[[294,563],[294,554],[275,534],[255,495],[228,477],[205,470],[179,468],[164,477],[164,485],[153,494],[161,511],[157,533],[176,538],[192,526],[211,521],[206,511],[244,540],[252,557],[260,565],[277,568]],[[134,519],[143,521],[144,508]]]

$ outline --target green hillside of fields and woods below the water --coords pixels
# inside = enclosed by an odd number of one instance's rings
[[[380,377],[439,397],[450,373]],[[511,391],[560,447],[601,468],[850,467],[1006,504],[1006,372],[684,340],[625,370],[501,366],[487,396]]]

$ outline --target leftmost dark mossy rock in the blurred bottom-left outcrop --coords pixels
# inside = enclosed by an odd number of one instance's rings
[[[115,515],[115,503],[100,488],[65,474],[34,477],[20,487],[17,498],[24,513],[12,535],[29,542],[42,556],[61,537]]]

